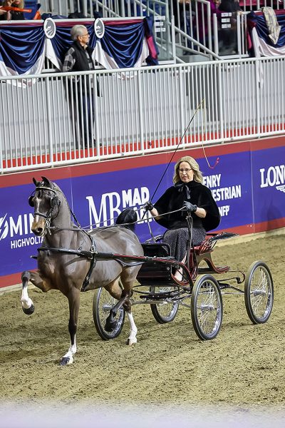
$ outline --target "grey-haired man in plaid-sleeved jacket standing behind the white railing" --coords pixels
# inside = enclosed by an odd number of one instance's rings
[[[63,72],[90,71],[94,70],[92,59],[93,49],[88,46],[89,34],[84,25],[75,25],[71,29],[71,39],[73,44],[68,49],[63,62]],[[86,78],[86,81],[85,81]],[[91,96],[92,86],[90,76],[78,76],[73,79],[73,88],[69,95],[73,93],[73,102],[76,104],[77,123],[81,133],[81,144],[88,148],[93,145],[93,97]],[[78,101],[77,101],[78,97]],[[72,100],[71,100],[72,102]]]

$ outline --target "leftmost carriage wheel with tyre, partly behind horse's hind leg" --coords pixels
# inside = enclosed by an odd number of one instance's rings
[[[120,332],[123,329],[125,322],[125,310],[123,307],[118,310],[116,321],[117,325],[113,332],[108,332],[105,330],[105,322],[110,314],[110,310],[117,303],[117,300],[112,297],[105,288],[101,287],[95,290],[93,297],[93,320],[98,332],[98,335],[103,340],[114,339],[120,335]]]

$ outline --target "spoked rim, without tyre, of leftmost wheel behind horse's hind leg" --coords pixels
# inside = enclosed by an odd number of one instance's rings
[[[117,325],[112,332],[108,332],[105,330],[105,323],[107,317],[110,315],[110,310],[117,303],[117,300],[112,297],[105,288],[102,288],[98,294],[98,321],[100,326],[105,332],[105,335],[110,337],[114,337],[118,334],[118,331],[121,329],[123,318],[124,318],[124,310],[123,307],[118,310],[115,320],[117,321]]]

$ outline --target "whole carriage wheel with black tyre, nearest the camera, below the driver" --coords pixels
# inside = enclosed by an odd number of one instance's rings
[[[222,325],[223,305],[219,284],[212,275],[202,275],[195,281],[191,296],[191,318],[197,336],[214,339]]]

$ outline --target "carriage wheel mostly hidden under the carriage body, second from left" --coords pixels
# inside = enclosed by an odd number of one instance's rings
[[[159,287],[158,292],[172,292],[178,290],[178,287]],[[151,286],[150,292],[157,292],[157,287]],[[173,321],[178,312],[178,303],[159,301],[157,303],[151,303],[150,309],[155,320],[160,324],[166,324],[167,322]]]

